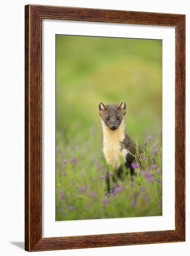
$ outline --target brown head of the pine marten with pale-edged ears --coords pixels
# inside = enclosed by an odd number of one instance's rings
[[[99,115],[105,125],[111,130],[116,130],[126,114],[126,103],[121,101],[120,104],[107,104],[100,102],[98,105]]]

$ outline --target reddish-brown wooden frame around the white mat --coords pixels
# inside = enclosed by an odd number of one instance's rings
[[[175,27],[175,230],[42,238],[42,19]],[[185,15],[25,6],[25,250],[42,251],[182,241],[185,241]]]

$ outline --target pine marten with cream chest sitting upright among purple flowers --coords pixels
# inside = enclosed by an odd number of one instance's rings
[[[133,179],[133,163],[136,153],[134,141],[126,133],[124,115],[126,114],[126,102],[120,104],[99,103],[98,112],[101,116],[103,129],[103,153],[109,166],[116,169],[117,176],[121,178],[122,163],[130,169]],[[131,154],[130,154],[131,153]],[[106,183],[110,192],[109,175],[107,172]]]

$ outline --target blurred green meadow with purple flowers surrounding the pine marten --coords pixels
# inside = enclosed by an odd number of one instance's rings
[[[140,145],[148,135],[152,140],[146,160],[136,156],[134,184],[126,175],[106,198],[97,108],[99,101],[121,100],[127,133]],[[162,215],[161,150],[162,41],[57,35],[56,220]]]

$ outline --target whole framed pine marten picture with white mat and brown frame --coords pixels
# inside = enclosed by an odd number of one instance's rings
[[[185,15],[25,6],[25,250],[185,241]]]

